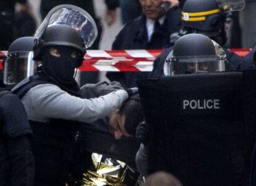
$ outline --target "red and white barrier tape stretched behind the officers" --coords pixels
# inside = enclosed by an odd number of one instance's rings
[[[88,50],[85,54],[80,71],[108,71],[108,72],[150,72],[153,61],[163,50]],[[250,49],[231,49],[241,57],[246,56]],[[0,59],[6,56],[6,51],[0,51]],[[2,63],[0,64],[2,69]]]

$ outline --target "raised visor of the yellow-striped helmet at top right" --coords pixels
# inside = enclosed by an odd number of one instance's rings
[[[244,0],[217,0],[217,2],[224,11],[241,11],[245,7]]]

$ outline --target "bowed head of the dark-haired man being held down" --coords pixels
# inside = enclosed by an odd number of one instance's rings
[[[139,95],[132,96],[114,112],[109,120],[110,132],[118,140],[121,137],[134,137],[136,128],[143,120],[143,109]]]

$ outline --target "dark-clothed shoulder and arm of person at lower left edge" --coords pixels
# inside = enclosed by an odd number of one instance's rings
[[[32,130],[17,96],[0,90],[0,182],[3,186],[33,185],[34,159],[30,149]]]

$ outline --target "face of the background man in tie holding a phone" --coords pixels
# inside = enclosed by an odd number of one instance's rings
[[[163,16],[162,0],[140,0],[142,11],[148,19],[159,19]]]

